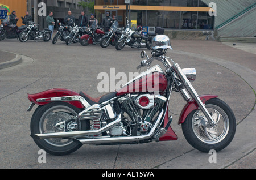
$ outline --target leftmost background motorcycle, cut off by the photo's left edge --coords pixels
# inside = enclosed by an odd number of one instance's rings
[[[6,16],[6,18],[1,21],[0,41],[5,38],[16,38],[18,40],[20,32],[27,28],[27,25],[18,27],[16,24],[10,24],[10,16]]]

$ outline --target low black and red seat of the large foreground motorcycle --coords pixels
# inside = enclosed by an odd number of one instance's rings
[[[100,96],[100,97],[97,97],[97,98],[90,97],[89,95],[87,95],[86,93],[84,93],[82,91],[79,94],[82,97],[84,97],[85,100],[90,105],[93,105],[93,104],[101,104],[104,101],[110,100],[110,98],[113,98],[113,97],[115,97],[117,95],[117,92],[110,92],[110,93],[107,93],[106,95],[103,95],[103,96]]]

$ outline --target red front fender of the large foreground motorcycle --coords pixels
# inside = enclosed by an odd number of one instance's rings
[[[216,95],[201,95],[199,96],[200,100],[205,104],[206,101],[210,100],[211,98],[216,98]],[[198,105],[195,100],[188,102],[180,113],[180,118],[178,124],[181,124],[185,121],[188,114],[191,113],[193,110],[198,109]]]

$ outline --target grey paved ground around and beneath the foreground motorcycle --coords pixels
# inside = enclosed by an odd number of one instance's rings
[[[254,45],[254,44],[253,44]],[[216,94],[233,109],[238,123],[230,145],[217,153],[217,163],[210,164],[208,153],[201,153],[187,143],[177,125],[185,102],[179,93],[171,97],[172,128],[179,137],[174,142],[135,145],[83,145],[68,156],[47,154],[47,163],[38,163],[38,151],[30,138],[30,104],[27,93],[64,87],[85,91],[93,97],[100,72],[136,72],[140,51],[99,45],[67,46],[58,41],[14,40],[0,42],[0,50],[22,55],[23,62],[0,70],[0,168],[256,168],[255,162],[255,54],[217,41],[173,40],[174,51],[168,56],[181,68],[195,67],[197,79],[192,85],[199,94]],[[252,46],[250,46],[251,48]],[[146,49],[145,49],[146,50]],[[254,52],[254,51],[253,51]],[[150,51],[146,50],[149,55]],[[156,62],[154,62],[156,63]],[[253,88],[253,89],[252,89]],[[34,111],[32,109],[32,111]]]

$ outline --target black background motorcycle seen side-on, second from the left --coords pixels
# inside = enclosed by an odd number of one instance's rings
[[[29,39],[32,39],[35,41],[37,40],[49,41],[51,39],[51,33],[52,31],[48,28],[44,29],[43,31],[40,31],[38,28],[38,24],[36,24],[35,22],[30,22],[26,30],[20,32],[19,41],[26,42]]]

